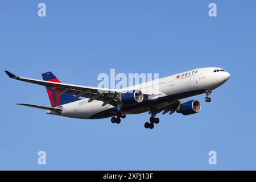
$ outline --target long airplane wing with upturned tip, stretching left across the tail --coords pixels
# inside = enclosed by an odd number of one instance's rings
[[[61,94],[73,94],[75,98],[86,97],[89,98],[89,102],[93,100],[103,101],[104,104],[111,104],[116,106],[118,101],[118,96],[122,93],[121,90],[116,89],[104,89],[97,88],[92,86],[81,86],[81,85],[73,85],[73,84],[64,84],[60,82],[52,82],[52,81],[44,81],[44,80],[35,80],[31,78],[19,77],[10,73],[9,71],[5,71],[6,74],[15,80],[30,82],[32,84],[55,87],[58,92]]]

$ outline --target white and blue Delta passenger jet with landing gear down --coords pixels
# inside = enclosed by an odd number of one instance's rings
[[[221,68],[199,68],[176,75],[159,78],[123,89],[102,89],[61,83],[52,72],[43,73],[43,80],[35,80],[13,75],[10,78],[46,86],[52,107],[18,104],[47,110],[47,114],[70,118],[100,119],[111,118],[112,123],[120,123],[126,114],[149,112],[150,122],[144,127],[153,129],[159,123],[156,114],[195,114],[201,110],[197,100],[180,101],[183,98],[205,93],[209,94],[228,80],[230,74]],[[84,98],[82,98],[84,97]]]

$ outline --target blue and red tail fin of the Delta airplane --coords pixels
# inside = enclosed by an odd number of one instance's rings
[[[60,80],[56,78],[52,72],[46,72],[42,74],[43,80],[45,81],[52,81],[52,82],[59,82]],[[77,101],[79,99],[74,99],[75,96],[71,94],[63,94],[60,96],[60,92],[55,90],[56,87],[48,87],[46,86],[46,90],[49,96],[49,100],[51,102],[52,107],[56,107],[59,105],[67,104],[69,102]]]

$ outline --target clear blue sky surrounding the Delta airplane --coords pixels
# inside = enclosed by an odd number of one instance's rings
[[[256,169],[254,0],[1,1],[0,17],[0,169]],[[209,66],[231,74],[212,102],[192,97],[203,105],[199,114],[161,114],[154,130],[144,129],[147,113],[115,125],[16,106],[50,103],[43,86],[4,72],[41,79],[52,71],[63,82],[97,86],[110,68],[163,77]],[[37,163],[40,150],[46,166]],[[216,166],[208,164],[211,150]]]

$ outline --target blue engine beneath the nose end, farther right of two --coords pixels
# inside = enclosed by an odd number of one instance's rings
[[[201,110],[201,104],[197,100],[191,100],[187,102],[183,102],[177,108],[177,113],[181,113],[183,115],[195,114]]]

